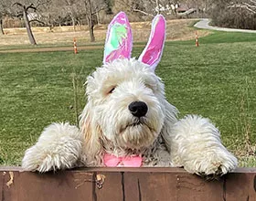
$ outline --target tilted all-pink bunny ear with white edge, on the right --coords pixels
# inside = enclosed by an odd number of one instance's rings
[[[165,43],[165,18],[162,15],[155,16],[152,22],[151,34],[138,60],[149,65],[150,69],[155,70],[159,63]]]

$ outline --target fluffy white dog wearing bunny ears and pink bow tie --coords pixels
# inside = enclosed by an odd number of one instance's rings
[[[88,102],[80,129],[54,123],[27,149],[29,171],[84,166],[183,166],[197,175],[224,175],[237,159],[222,145],[218,129],[199,116],[176,119],[155,75],[165,41],[165,19],[155,16],[138,60],[131,57],[132,34],[123,12],[112,20],[104,60],[87,79]]]

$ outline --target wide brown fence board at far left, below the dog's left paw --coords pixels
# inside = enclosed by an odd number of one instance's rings
[[[92,174],[5,172],[2,201],[92,200]]]

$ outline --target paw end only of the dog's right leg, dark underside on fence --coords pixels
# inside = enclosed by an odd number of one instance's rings
[[[232,172],[238,164],[237,158],[229,153],[224,147],[223,150],[214,153],[202,153],[192,161],[187,161],[184,168],[187,172],[201,175],[207,179],[217,179],[221,175]]]

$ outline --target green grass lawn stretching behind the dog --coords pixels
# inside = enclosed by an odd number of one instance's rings
[[[223,143],[256,166],[256,34],[214,32],[194,41],[167,42],[156,74],[180,117],[208,117]],[[134,48],[138,56],[142,48]],[[72,73],[82,83],[101,66],[102,49],[0,54],[0,164],[20,164],[25,150],[51,122],[75,123]]]

